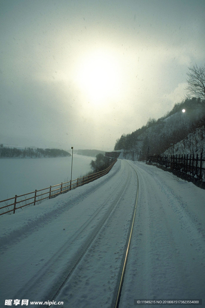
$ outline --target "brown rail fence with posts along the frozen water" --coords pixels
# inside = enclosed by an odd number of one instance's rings
[[[36,189],[35,191],[31,193],[26,193],[20,196],[15,195],[15,197],[2,200],[0,201],[0,205],[3,202],[5,205],[0,207],[0,211],[2,212],[0,213],[0,216],[3,214],[8,214],[8,213],[15,214],[16,210],[21,209],[25,206],[39,204],[45,199],[55,198],[58,195],[61,195],[62,193],[67,193],[68,191],[72,189],[75,189],[79,186],[92,182],[93,180],[97,180],[101,176],[104,176],[105,174],[107,174],[115,163],[116,163],[116,160],[105,170],[90,174],[88,176],[77,178],[76,180],[70,180],[68,182],[49,186],[47,188],[43,188],[39,190]],[[22,200],[22,198],[24,199]],[[10,207],[13,207],[13,208],[11,209]],[[5,212],[3,212],[4,209],[6,210]]]

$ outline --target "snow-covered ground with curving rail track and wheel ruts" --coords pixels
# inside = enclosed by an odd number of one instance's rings
[[[66,308],[114,305],[135,170],[139,197],[119,307],[134,307],[137,298],[205,304],[205,191],[156,167],[118,160],[92,183],[0,217],[1,307],[6,299],[29,299],[29,307],[53,300]]]

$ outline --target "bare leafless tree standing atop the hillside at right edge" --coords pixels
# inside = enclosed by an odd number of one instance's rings
[[[187,73],[188,78],[186,79],[188,86],[186,90],[188,90],[188,97],[196,96],[200,97],[203,100],[205,99],[205,64],[193,65],[192,67],[188,67],[189,72]]]

